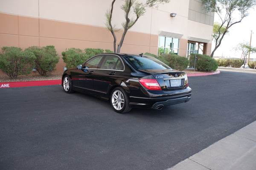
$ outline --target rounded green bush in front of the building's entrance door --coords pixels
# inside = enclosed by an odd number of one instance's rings
[[[190,54],[190,66],[194,66],[198,71],[215,71],[218,68],[218,62],[208,55]],[[194,64],[195,63],[195,64]]]

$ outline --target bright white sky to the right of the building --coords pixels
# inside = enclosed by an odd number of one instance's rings
[[[218,21],[215,14],[214,21]],[[240,42],[250,42],[251,30],[253,30],[251,46],[256,47],[256,10],[251,9],[249,15],[241,23],[236,23],[229,28],[229,34],[224,36],[221,46],[215,51],[214,57],[241,58],[242,51],[234,49]],[[212,42],[212,50],[215,47]],[[256,54],[250,54],[250,58],[256,59]]]

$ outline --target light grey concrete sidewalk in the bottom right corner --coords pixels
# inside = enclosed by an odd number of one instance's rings
[[[256,121],[168,170],[256,170]]]

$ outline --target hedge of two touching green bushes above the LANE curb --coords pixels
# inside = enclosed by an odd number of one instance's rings
[[[46,76],[47,72],[55,70],[59,57],[54,46],[32,46],[24,51],[18,47],[3,47],[0,53],[0,69],[11,79],[18,75],[28,75],[33,68],[39,74]]]

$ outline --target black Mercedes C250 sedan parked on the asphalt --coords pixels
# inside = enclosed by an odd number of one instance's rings
[[[66,93],[81,91],[109,100],[118,113],[162,109],[191,98],[186,73],[142,54],[96,55],[64,71],[62,86]]]

